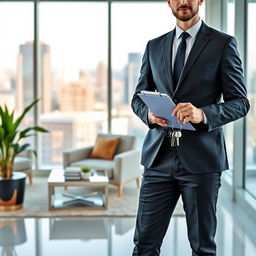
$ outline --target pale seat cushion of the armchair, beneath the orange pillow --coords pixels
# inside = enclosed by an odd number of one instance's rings
[[[85,160],[73,162],[71,166],[81,167],[81,166],[90,166],[94,169],[104,169],[108,173],[108,178],[113,178],[113,168],[114,161],[111,160],[103,160],[103,159],[90,159],[87,158]]]

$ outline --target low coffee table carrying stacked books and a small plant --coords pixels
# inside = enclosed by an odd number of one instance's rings
[[[102,175],[103,173],[103,175]],[[97,171],[96,173],[97,174]],[[63,169],[53,169],[48,178],[48,208],[49,210],[65,208],[107,209],[108,207],[108,176],[101,170],[101,176],[94,175],[90,180],[65,181]],[[84,187],[90,193],[57,193],[56,187]]]

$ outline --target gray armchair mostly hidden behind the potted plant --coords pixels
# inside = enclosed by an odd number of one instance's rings
[[[32,160],[33,152],[30,149],[24,150],[14,158],[13,170],[15,172],[25,172],[32,184]]]

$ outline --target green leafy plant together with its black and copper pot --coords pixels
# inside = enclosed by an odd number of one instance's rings
[[[29,143],[22,143],[24,138],[37,132],[48,132],[40,126],[20,130],[25,115],[38,101],[27,106],[17,119],[14,118],[14,111],[9,112],[7,106],[0,106],[0,210],[17,210],[23,206],[26,174],[13,172],[13,162],[19,153],[30,146]],[[31,134],[31,131],[34,133]]]

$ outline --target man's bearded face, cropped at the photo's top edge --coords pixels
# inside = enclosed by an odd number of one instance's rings
[[[167,0],[173,15],[181,21],[191,20],[199,11],[204,0]]]

